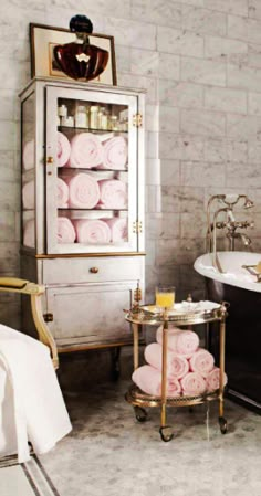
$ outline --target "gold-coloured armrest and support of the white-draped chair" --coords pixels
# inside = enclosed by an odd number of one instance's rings
[[[33,321],[39,335],[39,340],[46,345],[51,351],[51,358],[55,369],[59,367],[58,348],[42,315],[41,295],[45,287],[17,277],[0,277],[0,292],[20,293],[31,297]]]

